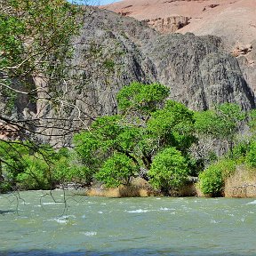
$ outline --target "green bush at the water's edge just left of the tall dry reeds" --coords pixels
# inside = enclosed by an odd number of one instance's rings
[[[199,188],[208,196],[222,196],[225,178],[236,170],[233,160],[221,160],[199,174]]]

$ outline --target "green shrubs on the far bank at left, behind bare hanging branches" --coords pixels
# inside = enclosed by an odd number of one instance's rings
[[[86,183],[85,167],[76,161],[76,154],[68,148],[58,152],[49,145],[40,147],[28,142],[1,141],[1,190],[50,189],[67,181]]]

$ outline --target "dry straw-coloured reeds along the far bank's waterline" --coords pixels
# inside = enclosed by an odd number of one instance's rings
[[[106,188],[104,185],[96,184],[86,188],[86,196],[106,196],[106,197],[148,197],[164,196],[159,190],[156,190],[148,184],[148,181],[141,178],[134,179],[130,186],[120,186],[118,188]],[[256,175],[251,169],[238,168],[232,176],[225,180],[223,188],[223,197],[237,198],[256,198]],[[199,188],[198,180],[191,179],[180,187],[169,191],[169,196],[198,196],[211,197],[204,195]]]

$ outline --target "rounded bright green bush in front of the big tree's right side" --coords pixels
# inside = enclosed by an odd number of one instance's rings
[[[176,148],[165,148],[158,153],[148,172],[149,182],[153,187],[168,191],[180,188],[188,179],[188,164],[186,158]]]

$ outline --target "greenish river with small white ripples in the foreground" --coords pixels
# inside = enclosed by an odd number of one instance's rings
[[[256,255],[256,200],[0,195],[0,255]]]

